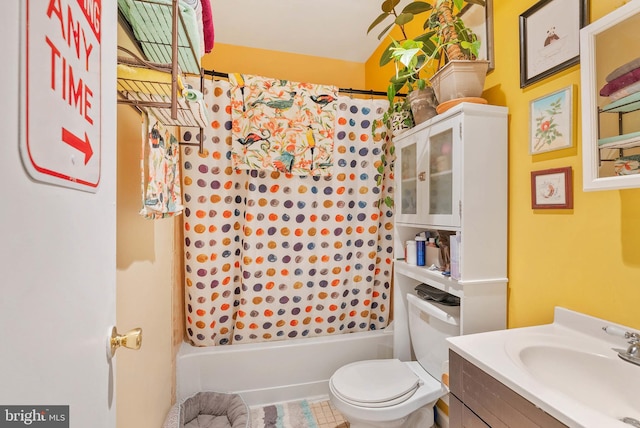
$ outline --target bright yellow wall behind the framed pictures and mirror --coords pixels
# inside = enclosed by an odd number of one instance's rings
[[[554,307],[563,306],[640,328],[640,189],[582,191],[580,67],[520,89],[519,15],[537,1],[493,0],[495,70],[484,93],[510,116],[508,325],[551,322]],[[593,21],[624,2],[590,3]],[[380,71],[379,55],[365,66],[366,84],[384,89],[393,71]],[[574,147],[531,156],[530,101],[569,85],[577,100]],[[532,210],[530,172],[565,166],[573,168],[574,208]]]

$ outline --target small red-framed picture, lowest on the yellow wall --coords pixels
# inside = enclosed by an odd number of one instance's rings
[[[571,167],[531,171],[531,208],[573,208]]]

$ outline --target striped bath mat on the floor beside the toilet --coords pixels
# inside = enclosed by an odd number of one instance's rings
[[[318,428],[307,400],[251,409],[252,428]]]

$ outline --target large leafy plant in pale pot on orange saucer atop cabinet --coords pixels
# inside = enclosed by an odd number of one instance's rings
[[[387,93],[389,96],[395,96],[406,87],[411,99],[417,95],[411,95],[415,89],[432,86],[440,103],[453,98],[477,97],[482,94],[488,62],[476,60],[480,42],[473,31],[464,24],[459,13],[466,3],[484,5],[484,0],[434,1],[433,5],[414,1],[405,6],[400,13],[396,13],[395,7],[399,0],[385,0],[382,3],[382,14],[369,26],[368,32],[388,17],[392,17],[393,22],[383,29],[378,38],[382,38],[394,26],[399,28],[402,35],[401,40],[392,39],[380,58],[380,66],[391,61],[395,64],[395,74],[391,78]],[[430,13],[421,29],[425,32],[409,37],[407,24],[417,15],[426,12]],[[476,65],[480,66],[480,78],[468,72]],[[453,73],[452,68],[455,69]],[[459,70],[462,70],[464,83],[455,80],[450,83],[449,79],[460,75]],[[470,74],[473,76],[471,79]],[[415,113],[414,118],[416,123],[421,122]]]

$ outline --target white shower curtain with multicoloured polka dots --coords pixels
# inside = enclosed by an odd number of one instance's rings
[[[229,88],[205,81],[204,153],[182,148],[190,341],[384,328],[393,258],[387,101],[340,96],[331,176],[299,176],[232,167]],[[183,129],[182,140],[197,141],[197,132]]]

